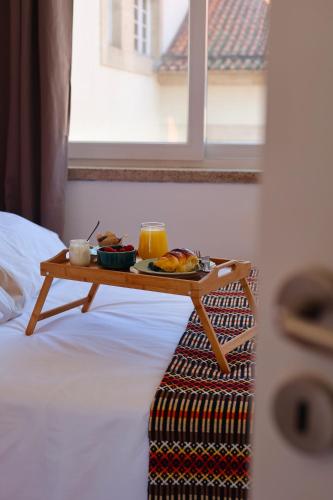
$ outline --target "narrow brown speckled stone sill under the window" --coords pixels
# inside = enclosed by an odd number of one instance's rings
[[[121,182],[203,182],[256,184],[260,181],[258,170],[218,170],[200,168],[110,168],[68,167],[70,181],[121,181]]]

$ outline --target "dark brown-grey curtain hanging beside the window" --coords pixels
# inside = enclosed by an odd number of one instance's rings
[[[72,0],[2,0],[0,209],[64,223]]]

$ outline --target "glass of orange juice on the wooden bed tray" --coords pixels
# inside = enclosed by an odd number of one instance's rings
[[[168,236],[164,222],[142,222],[138,254],[141,259],[161,257],[168,251]]]

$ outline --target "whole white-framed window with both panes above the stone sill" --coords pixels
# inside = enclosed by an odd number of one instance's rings
[[[268,11],[267,0],[75,0],[70,158],[257,168]]]

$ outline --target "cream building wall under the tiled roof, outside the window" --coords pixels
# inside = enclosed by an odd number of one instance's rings
[[[263,142],[265,81],[263,75],[244,75],[235,81],[225,74],[207,88],[207,140],[209,142]],[[186,78],[163,77],[160,86],[162,134],[184,140],[187,127]]]

